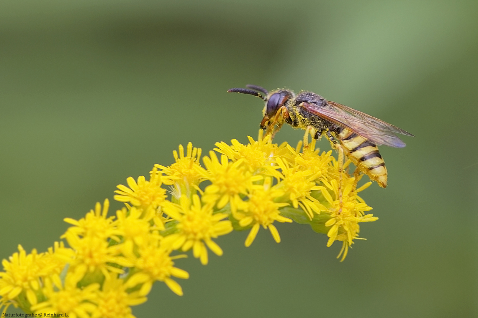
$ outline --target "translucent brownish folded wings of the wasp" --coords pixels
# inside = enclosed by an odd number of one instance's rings
[[[385,144],[391,147],[402,148],[405,147],[405,143],[395,133],[413,136],[413,134],[390,123],[339,103],[327,101],[327,105],[318,106],[314,103],[304,102],[301,106],[308,112],[340,127],[347,128],[377,145]]]

